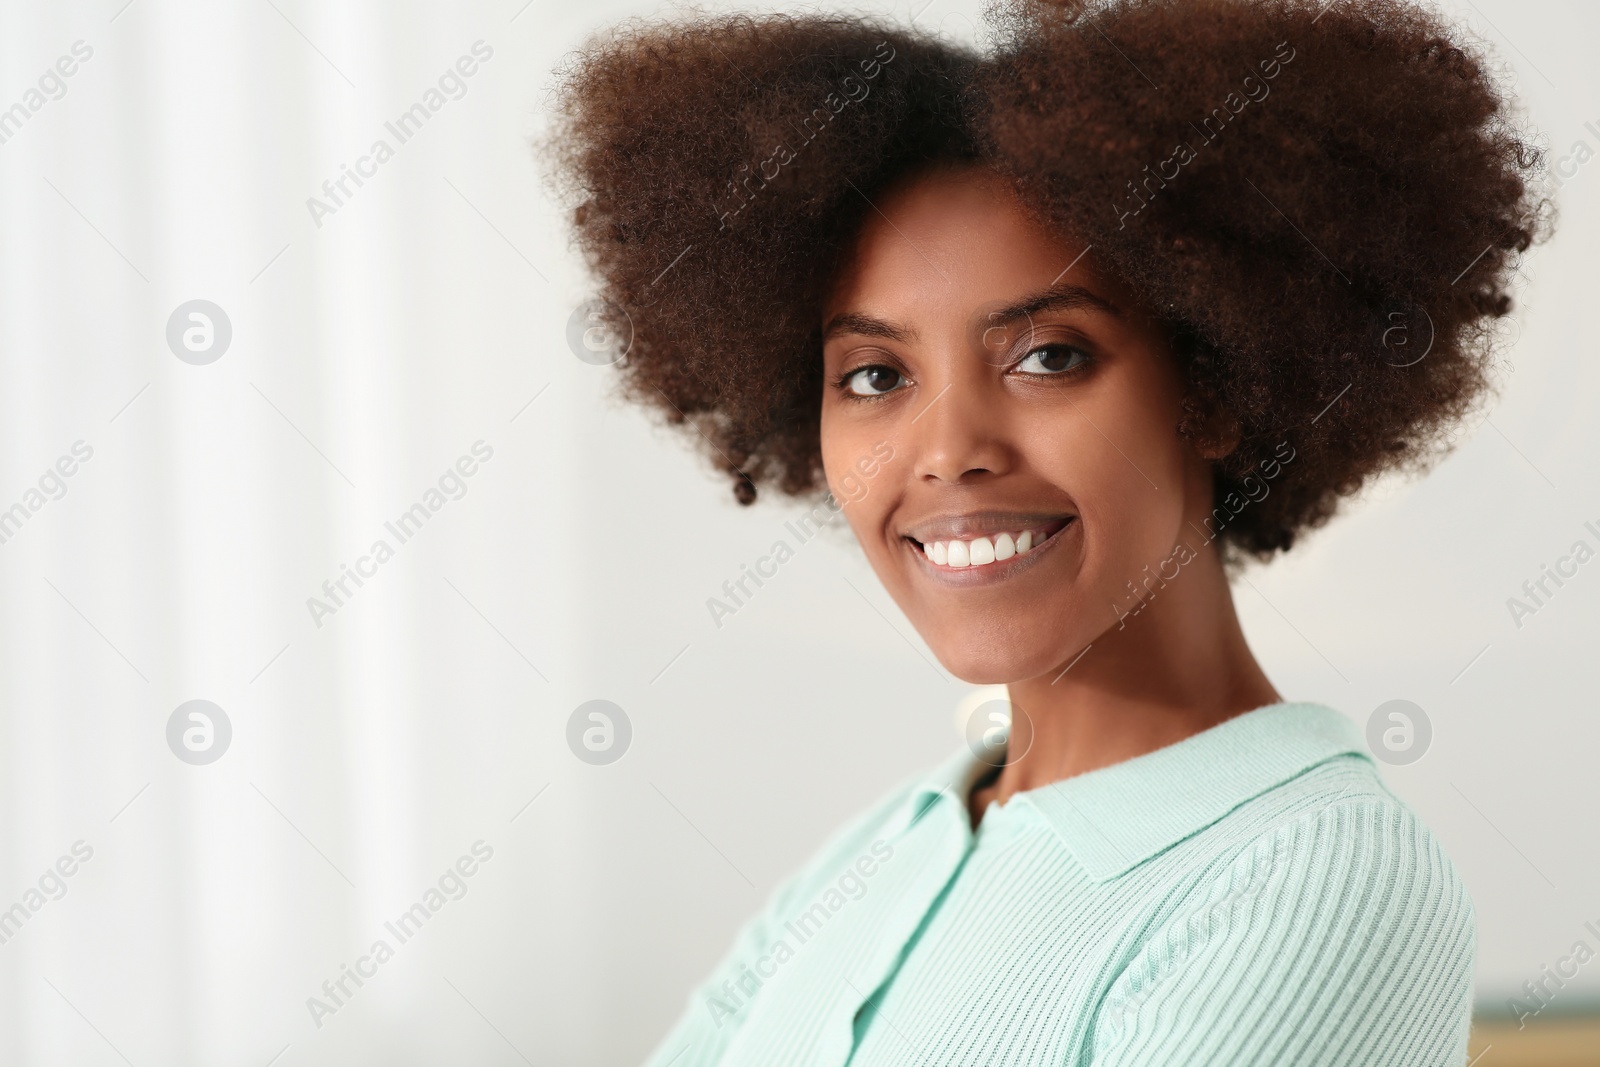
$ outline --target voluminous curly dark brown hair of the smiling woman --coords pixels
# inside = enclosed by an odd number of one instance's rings
[[[1550,219],[1482,45],[1405,0],[1005,0],[989,22],[974,51],[691,16],[573,58],[547,144],[632,338],[622,395],[699,430],[744,504],[819,491],[829,285],[877,190],[973,162],[1174,330],[1178,432],[1238,437],[1218,501],[1291,438],[1230,558],[1448,448]]]

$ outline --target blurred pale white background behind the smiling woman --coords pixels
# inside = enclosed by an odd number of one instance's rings
[[[1474,1054],[1600,1062],[1600,563],[1509,605],[1600,547],[1600,10],[1446,10],[1558,234],[1454,454],[1237,598],[1286,696],[1426,717],[1384,774],[1478,907]],[[638,1062],[962,744],[842,522],[712,621],[805,506],[738,507],[586,339],[530,139],[563,54],[674,11],[0,5],[0,1062]]]

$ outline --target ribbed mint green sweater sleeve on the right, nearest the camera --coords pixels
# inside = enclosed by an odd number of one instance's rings
[[[1301,816],[1182,907],[1115,979],[1093,1067],[1461,1067],[1472,899],[1392,798]]]

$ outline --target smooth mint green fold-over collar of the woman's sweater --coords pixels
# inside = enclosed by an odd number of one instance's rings
[[[1368,761],[1355,723],[1331,707],[1267,704],[1179,742],[1011,797],[1056,832],[1094,881],[1107,881],[1211,825],[1253,797],[1341,755]],[[990,766],[960,749],[912,790],[915,822],[966,795]],[[963,822],[965,825],[965,822]]]

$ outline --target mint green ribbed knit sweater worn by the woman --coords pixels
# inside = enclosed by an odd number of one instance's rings
[[[1458,1065],[1472,899],[1346,717],[990,805],[965,749],[790,877],[651,1067]]]

